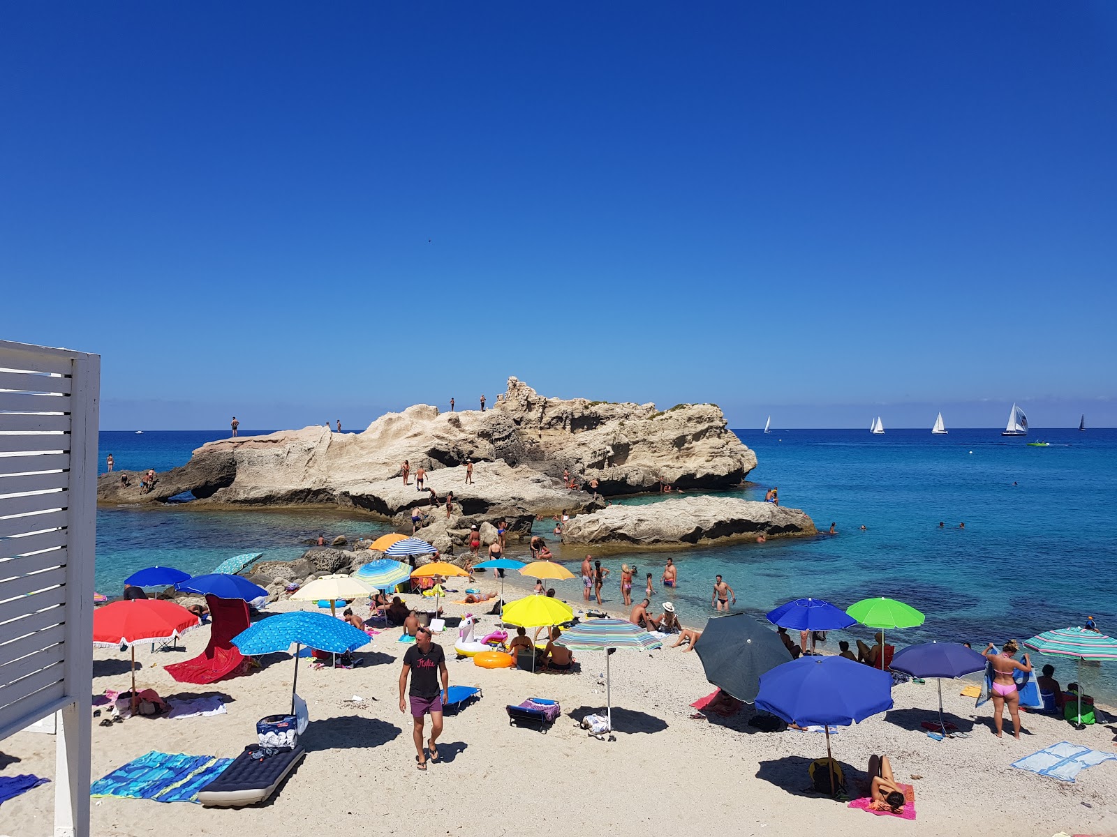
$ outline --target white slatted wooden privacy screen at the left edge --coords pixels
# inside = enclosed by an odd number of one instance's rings
[[[89,833],[101,358],[0,340],[0,740],[59,710],[55,834]]]

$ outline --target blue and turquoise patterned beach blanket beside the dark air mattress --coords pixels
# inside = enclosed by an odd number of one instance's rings
[[[216,779],[231,762],[232,759],[213,756],[152,750],[95,781],[89,796],[197,802],[198,789]]]

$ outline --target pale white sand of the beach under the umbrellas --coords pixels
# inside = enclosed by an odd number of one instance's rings
[[[580,597],[575,584],[563,583],[560,594]],[[491,588],[491,581],[479,586]],[[573,604],[576,610],[580,602]],[[619,604],[614,604],[614,615],[620,615]],[[470,608],[447,605],[446,609],[460,614]],[[483,627],[494,623],[495,617],[481,618]],[[379,635],[359,654],[365,664],[350,671],[312,670],[307,661],[300,661],[298,692],[312,718],[303,739],[308,753],[269,804],[235,810],[99,799],[93,804],[93,833],[579,837],[651,829],[657,835],[862,837],[1117,831],[1117,762],[1082,771],[1073,785],[1010,767],[1063,740],[1113,751],[1114,731],[1107,727],[1076,732],[1066,722],[1029,715],[1030,734],[1016,741],[1006,731],[1005,738],[997,739],[991,731],[991,709],[983,706],[974,720],[973,699],[958,696],[964,684],[948,682],[944,684],[946,710],[962,729],[973,724],[972,738],[934,741],[911,729],[934,716],[934,682],[900,685],[894,690],[896,709],[842,728],[833,738],[834,756],[848,777],[862,776],[869,756],[882,752],[891,757],[897,778],[915,786],[915,822],[878,817],[801,792],[809,783],[806,764],[825,754],[822,734],[758,733],[745,724],[747,710],[729,721],[691,720],[694,710],[688,704],[713,686],[706,682],[698,656],[679,648],[613,655],[618,732],[615,741],[603,742],[576,729],[571,719],[580,708],[604,706],[604,689],[596,684],[598,673],[604,670],[603,653],[579,654],[581,674],[489,671],[470,660],[455,661],[457,631],[447,632],[437,638],[449,650],[450,682],[480,685],[485,695],[459,716],[447,719],[439,745],[443,763],[432,763],[423,773],[414,766],[410,716],[399,712],[399,661],[408,647],[395,642],[399,634],[392,629]],[[178,684],[161,667],[193,656],[207,641],[208,628],[201,628],[187,635],[185,654],[137,648],[136,658],[144,666],[137,684],[154,687],[163,696],[208,691]],[[94,657],[96,693],[127,687],[125,655],[97,650]],[[292,662],[286,655],[274,658],[262,671],[212,686],[233,699],[228,714],[176,721],[135,718],[109,728],[94,725],[93,778],[153,749],[236,756],[255,741],[259,718],[289,706]],[[1066,682],[1070,666],[1058,667],[1057,674]],[[354,694],[365,699],[364,708],[342,703]],[[528,696],[561,701],[564,714],[550,733],[509,728],[505,704]],[[0,764],[19,760],[8,763],[4,775],[51,777],[54,745],[52,737],[29,732],[0,742]],[[922,778],[911,779],[913,775]],[[49,783],[6,802],[0,808],[0,835],[50,835],[52,805]]]

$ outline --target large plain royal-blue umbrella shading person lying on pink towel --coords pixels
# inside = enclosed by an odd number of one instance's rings
[[[830,724],[848,727],[890,710],[892,677],[846,657],[800,657],[761,675],[755,705],[787,723],[822,727],[827,735],[830,789],[837,791]]]

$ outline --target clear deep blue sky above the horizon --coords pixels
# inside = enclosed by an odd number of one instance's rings
[[[0,337],[103,426],[1117,424],[1117,6],[7,3]]]

